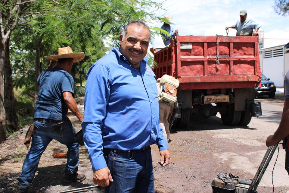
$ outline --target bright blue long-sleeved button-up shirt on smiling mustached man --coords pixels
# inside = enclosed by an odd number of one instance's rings
[[[113,48],[86,75],[83,137],[93,170],[106,167],[103,148],[138,150],[168,144],[159,124],[156,76],[140,62],[140,71]]]

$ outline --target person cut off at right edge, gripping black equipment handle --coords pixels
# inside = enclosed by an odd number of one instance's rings
[[[283,114],[279,127],[273,135],[269,135],[266,140],[266,145],[272,146],[283,140],[283,149],[285,149],[285,169],[289,175],[289,71],[287,71],[284,78],[284,96],[285,102],[283,107]]]

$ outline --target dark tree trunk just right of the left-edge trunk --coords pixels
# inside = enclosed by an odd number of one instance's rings
[[[14,91],[12,82],[12,70],[9,52],[10,37],[6,41],[5,64],[4,64],[4,106],[6,113],[6,127],[12,131],[18,129],[18,119],[15,110]]]

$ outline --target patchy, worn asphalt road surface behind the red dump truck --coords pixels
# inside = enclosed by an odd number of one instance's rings
[[[172,131],[169,143],[171,164],[157,167],[159,153],[152,147],[157,192],[212,192],[211,182],[219,173],[233,173],[253,179],[266,153],[266,138],[279,125],[282,102],[270,104],[258,99],[263,115],[253,117],[247,127],[225,126],[216,117],[192,121],[187,129]],[[278,159],[276,161],[278,154]],[[272,170],[273,184],[272,184]],[[289,193],[288,174],[284,169],[285,152],[279,144],[257,188],[261,193]]]

